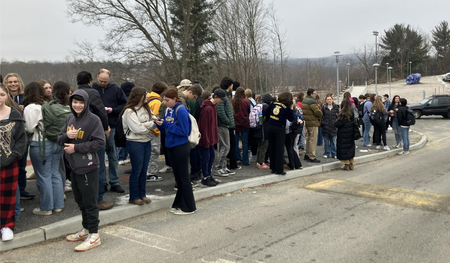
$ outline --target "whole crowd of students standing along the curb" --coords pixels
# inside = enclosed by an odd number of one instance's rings
[[[151,202],[146,197],[147,181],[161,181],[160,174],[172,171],[177,194],[170,212],[187,215],[196,210],[193,189],[198,183],[215,187],[220,181],[214,176],[234,175],[239,165],[255,162],[258,169],[284,175],[285,169],[303,169],[303,152],[305,161],[320,163],[318,135],[324,142],[323,158],[339,159],[344,170],[353,170],[359,125],[363,146],[371,146],[371,112],[379,112],[385,120],[374,125],[373,144],[380,148],[383,142],[383,149],[389,150],[390,125],[394,147],[403,143],[402,154],[409,153],[407,101],[398,96],[388,104],[387,95],[383,102],[366,94],[356,104],[357,99],[346,92],[338,105],[333,94],[322,103],[313,88],[306,95],[282,92],[277,97],[269,93],[257,97],[230,77],[211,91],[189,80],[171,86],[156,82],[147,91],[131,82],[119,87],[110,83],[110,75],[101,69],[93,82],[91,73],[82,71],[76,91],[62,81],[52,86],[38,80],[24,86],[16,73],[4,78],[0,91],[3,241],[13,239],[19,200],[34,197],[25,190],[28,155],[40,197],[33,213],[61,212],[65,192],[72,191],[83,227],[67,240],[83,241],[75,250],[85,251],[101,245],[98,213],[113,206],[104,200],[108,185],[110,191],[124,192],[118,165],[131,163],[126,171],[129,203],[136,205]],[[158,170],[160,153],[165,164]]]

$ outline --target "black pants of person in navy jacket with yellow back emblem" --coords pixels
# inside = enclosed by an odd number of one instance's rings
[[[286,129],[268,125],[269,130],[269,158],[270,170],[275,173],[284,172],[284,139],[286,137]]]

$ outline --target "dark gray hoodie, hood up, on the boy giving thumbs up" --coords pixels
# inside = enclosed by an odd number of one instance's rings
[[[72,100],[74,95],[79,95],[84,98],[85,108],[83,112],[77,116],[77,113],[72,109]],[[98,116],[89,111],[89,96],[84,90],[77,90],[69,98],[69,106],[72,115],[67,117],[66,124],[61,129],[58,135],[58,144],[64,146],[65,143],[74,144],[75,152],[88,153],[90,152],[94,157],[92,165],[85,167],[78,167],[73,161],[72,154],[65,152],[65,157],[69,162],[70,168],[77,174],[88,173],[98,167],[97,151],[105,147],[106,138],[103,130],[102,122]],[[69,139],[67,131],[73,125],[74,129],[79,130],[76,139]]]

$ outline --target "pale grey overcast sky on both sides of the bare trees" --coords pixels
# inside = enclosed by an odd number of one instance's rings
[[[266,0],[268,3],[269,1]],[[430,32],[450,20],[448,0],[274,0],[287,31],[291,57],[345,54],[363,42],[374,42],[372,31],[410,23]],[[76,48],[74,40],[95,43],[104,32],[65,17],[63,0],[1,0],[0,57],[7,60],[62,60]],[[444,11],[447,10],[447,11]]]

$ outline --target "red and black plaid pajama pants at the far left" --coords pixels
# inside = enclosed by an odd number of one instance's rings
[[[17,159],[0,169],[0,228],[14,228],[17,181],[19,165]]]

